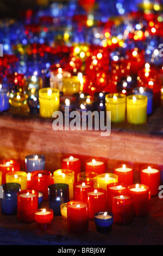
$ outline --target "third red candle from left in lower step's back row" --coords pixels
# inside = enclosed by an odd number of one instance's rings
[[[105,163],[103,161],[92,161],[85,162],[85,172],[95,172],[98,174],[105,173]]]

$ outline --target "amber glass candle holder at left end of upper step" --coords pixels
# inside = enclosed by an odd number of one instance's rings
[[[24,93],[10,93],[10,112],[15,114],[26,114],[30,112],[28,106],[28,95]]]

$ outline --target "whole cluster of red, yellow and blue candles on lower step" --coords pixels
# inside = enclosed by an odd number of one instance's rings
[[[1,212],[17,214],[18,221],[47,225],[54,215],[67,220],[67,230],[83,233],[94,220],[98,232],[108,232],[112,223],[130,224],[134,217],[149,214],[149,200],[160,186],[160,168],[143,166],[140,184],[134,184],[134,168],[118,164],[106,173],[103,161],[85,162],[81,171],[78,157],[64,156],[61,169],[45,170],[45,156],[28,155],[26,170],[15,160],[1,160]],[[41,208],[42,202],[48,208]]]

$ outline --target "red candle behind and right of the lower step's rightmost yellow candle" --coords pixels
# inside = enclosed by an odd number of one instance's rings
[[[134,184],[134,170],[129,164],[118,164],[114,167],[113,172],[118,175],[118,182],[128,186]]]

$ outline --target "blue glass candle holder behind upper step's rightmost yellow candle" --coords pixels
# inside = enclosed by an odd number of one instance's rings
[[[153,90],[147,87],[136,87],[133,89],[133,94],[147,96],[147,115],[153,112]]]

